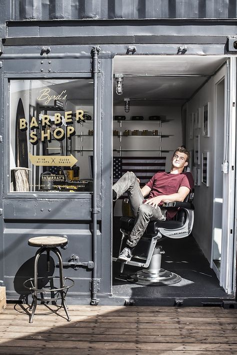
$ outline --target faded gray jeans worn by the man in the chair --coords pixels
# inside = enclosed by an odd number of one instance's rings
[[[127,171],[122,175],[112,188],[116,192],[117,198],[119,198],[124,192],[127,192],[131,209],[135,217],[135,223],[126,244],[130,247],[134,247],[143,235],[149,221],[164,221],[166,219],[166,209],[159,206],[154,208],[151,205],[142,203],[144,197],[141,193],[136,176],[131,171]]]

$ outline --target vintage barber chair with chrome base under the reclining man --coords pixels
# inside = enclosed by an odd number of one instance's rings
[[[113,261],[121,263],[120,273],[123,272],[124,264],[143,268],[135,274],[129,276],[127,280],[138,285],[163,286],[172,285],[181,281],[181,277],[170,271],[161,268],[161,255],[164,254],[159,242],[164,238],[180,239],[187,237],[192,230],[194,221],[194,207],[192,200],[194,190],[192,190],[184,202],[167,202],[163,206],[166,209],[178,208],[175,219],[169,221],[149,222],[145,233],[141,237],[137,246],[133,249],[130,261],[122,261],[113,258]],[[134,225],[133,217],[120,218],[120,231],[122,233],[119,254],[126,246],[125,240]],[[119,255],[118,254],[118,255]]]

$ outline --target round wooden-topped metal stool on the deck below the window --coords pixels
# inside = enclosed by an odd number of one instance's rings
[[[64,308],[67,321],[70,321],[68,312],[67,312],[67,307],[65,303],[65,296],[70,287],[74,285],[74,281],[69,279],[69,278],[63,278],[62,276],[62,259],[61,259],[61,253],[57,247],[65,247],[67,245],[67,238],[66,237],[55,237],[55,236],[42,236],[42,237],[33,237],[28,240],[28,245],[32,247],[39,247],[39,249],[35,253],[35,259],[34,259],[34,278],[28,279],[24,282],[24,287],[30,290],[31,295],[32,295],[32,303],[29,308],[29,311],[32,311],[30,318],[29,318],[29,323],[32,323],[34,312],[37,306],[37,301],[41,301],[42,303],[45,302],[55,302],[58,299],[61,299],[61,307]],[[59,261],[59,288],[55,288],[53,286],[53,279],[58,279],[58,277],[41,277],[38,278],[38,259],[40,255],[46,251],[47,255],[47,272],[50,270],[50,259],[49,259],[49,253],[53,252]],[[45,279],[46,283],[49,282],[49,287],[44,287],[41,289],[38,289],[38,280],[39,279]],[[70,284],[66,286],[66,282],[69,280]],[[45,293],[50,293],[49,298],[44,298],[42,294]],[[38,294],[40,294],[40,297],[38,297]]]

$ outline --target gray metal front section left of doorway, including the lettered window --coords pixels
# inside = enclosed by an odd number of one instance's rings
[[[64,276],[75,281],[68,298],[77,303],[111,292],[101,255],[111,254],[104,202],[111,194],[111,57],[97,47],[91,55],[32,57],[3,56],[0,280],[8,299],[27,297],[23,282],[33,275],[36,251],[27,240],[66,235]],[[40,263],[44,276],[43,257]],[[46,276],[57,275],[57,261],[50,265]]]

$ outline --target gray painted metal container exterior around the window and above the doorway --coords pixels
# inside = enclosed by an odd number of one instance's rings
[[[107,189],[111,185],[111,142],[106,137],[111,134],[113,54],[109,53],[125,54],[128,45],[133,44],[135,54],[174,55],[179,44],[187,44],[188,54],[223,54],[227,36],[234,36],[237,31],[236,6],[236,0],[1,1],[0,37],[4,39],[0,50],[3,52],[0,57],[0,135],[3,143],[7,133],[7,77],[60,77],[68,74],[68,65],[64,65],[67,60],[70,60],[71,72],[78,72],[80,58],[76,62],[71,59],[75,53],[87,56],[79,67],[90,75],[91,47],[93,44],[102,46],[102,109],[98,126],[101,149],[96,157],[101,167],[97,186],[101,210],[96,229],[98,293],[100,300],[105,300],[101,303],[120,302],[112,300],[111,295],[111,205],[107,203],[111,200],[110,189]],[[42,45],[50,45],[52,49],[50,75],[40,72]],[[71,57],[66,58],[65,53]],[[56,199],[46,195],[8,196],[4,175],[7,171],[6,146],[0,143],[0,280],[4,280],[8,298],[15,300],[23,297],[22,282],[33,272],[34,250],[27,246],[29,236],[63,232],[70,241],[68,249],[62,252],[63,261],[67,261],[75,250],[81,261],[91,260],[92,206],[88,194],[76,199],[71,199],[70,195]],[[58,209],[58,205],[64,206],[65,202],[66,213]],[[70,302],[88,303],[91,270],[67,269],[65,276],[76,280]]]

